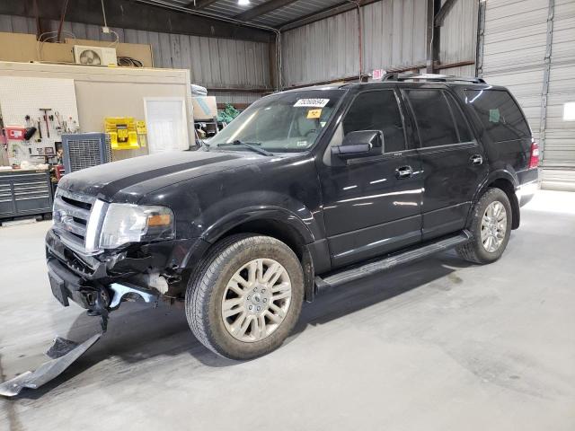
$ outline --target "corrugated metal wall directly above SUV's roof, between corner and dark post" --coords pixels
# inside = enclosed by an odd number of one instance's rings
[[[426,0],[384,0],[361,7],[363,71],[425,64]],[[349,11],[282,33],[283,85],[359,74],[358,13]]]

